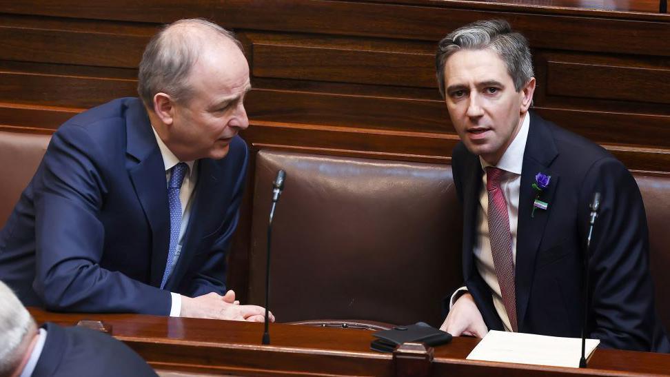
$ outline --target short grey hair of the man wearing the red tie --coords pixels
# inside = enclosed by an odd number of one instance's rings
[[[503,19],[475,21],[447,34],[438,44],[435,68],[440,94],[445,97],[445,65],[447,59],[458,50],[484,50],[488,48],[498,54],[507,65],[507,73],[520,91],[535,76],[533,60],[527,39],[513,32]]]

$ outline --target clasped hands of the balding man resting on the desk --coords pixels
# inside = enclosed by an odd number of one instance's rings
[[[263,322],[265,308],[256,305],[240,305],[240,302],[235,300],[235,292],[230,290],[225,296],[214,292],[195,298],[182,296],[181,316]],[[269,314],[269,317],[270,322],[274,322],[272,313]]]

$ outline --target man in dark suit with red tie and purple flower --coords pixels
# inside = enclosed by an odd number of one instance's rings
[[[670,351],[636,182],[602,147],[529,112],[536,81],[525,38],[506,21],[471,23],[440,41],[436,68],[461,140],[452,166],[464,212],[465,287],[442,329],[579,337],[586,256],[588,336]],[[601,203],[587,250],[594,192]]]

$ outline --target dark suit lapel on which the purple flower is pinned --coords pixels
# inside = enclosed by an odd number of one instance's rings
[[[516,236],[516,308],[519,331],[523,330],[523,318],[528,307],[531,283],[534,278],[535,260],[538,248],[545,234],[545,227],[553,207],[554,192],[559,176],[550,169],[551,162],[558,156],[554,136],[537,114],[531,115],[530,130],[526,141],[519,193],[518,229]],[[551,176],[549,187],[540,195],[540,200],[549,203],[547,210],[537,209],[535,216],[533,203],[536,190],[532,187],[539,172]]]

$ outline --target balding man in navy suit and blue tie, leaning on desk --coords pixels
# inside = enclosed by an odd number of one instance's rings
[[[55,132],[0,232],[0,278],[47,309],[263,320],[225,287],[250,88],[241,45],[220,26],[181,20],[156,34],[141,99]]]

